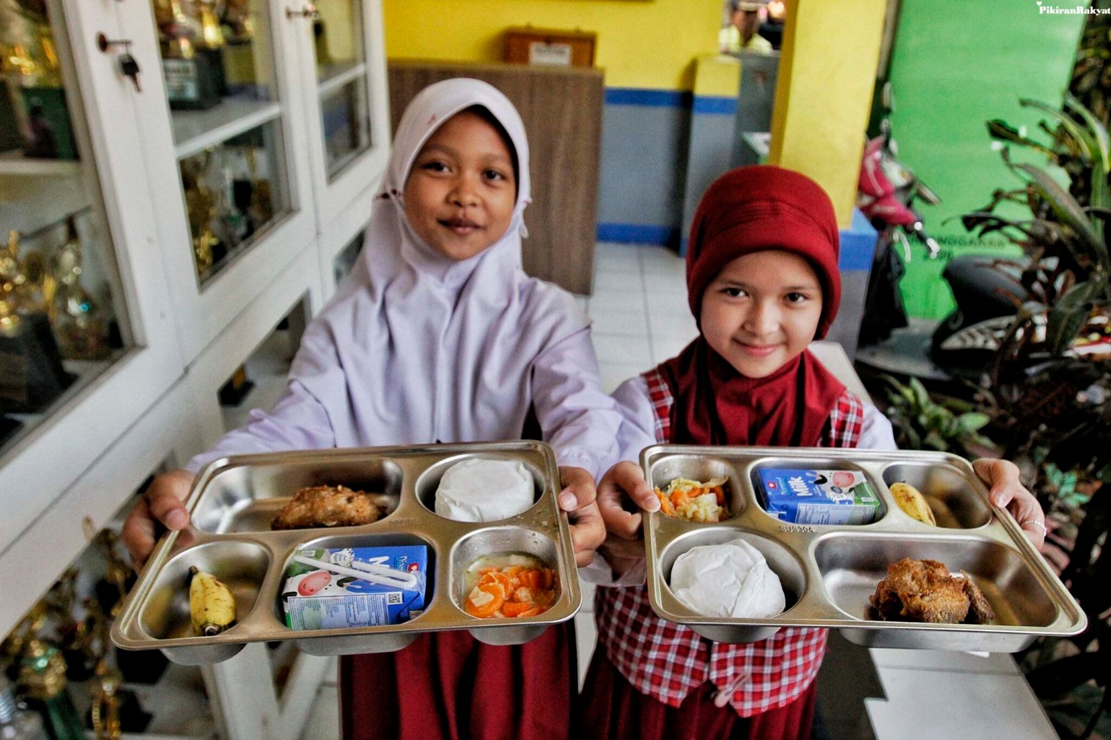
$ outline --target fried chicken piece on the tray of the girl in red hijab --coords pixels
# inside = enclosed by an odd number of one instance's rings
[[[971,581],[954,578],[937,560],[903,558],[888,566],[869,602],[879,619],[958,624],[969,613],[965,583]]]

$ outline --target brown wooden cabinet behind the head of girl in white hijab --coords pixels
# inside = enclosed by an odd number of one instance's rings
[[[524,211],[524,271],[590,294],[598,228],[602,73],[521,64],[391,60],[392,128],[424,87],[453,77],[484,80],[506,93],[529,136],[532,203]]]

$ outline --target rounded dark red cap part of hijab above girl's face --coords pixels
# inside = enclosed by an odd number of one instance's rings
[[[804,174],[761,164],[730,170],[711,184],[691,224],[687,297],[694,320],[702,292],[738,257],[781,249],[805,258],[822,283],[815,339],[829,331],[841,302],[840,232],[833,203]]]

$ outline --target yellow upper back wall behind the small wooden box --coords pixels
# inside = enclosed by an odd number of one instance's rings
[[[607,87],[690,90],[691,60],[715,51],[721,0],[384,0],[391,59],[493,62],[510,26],[598,33]]]

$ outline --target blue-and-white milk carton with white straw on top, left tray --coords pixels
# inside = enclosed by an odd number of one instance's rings
[[[282,603],[294,630],[399,624],[424,609],[428,548],[298,550]]]

